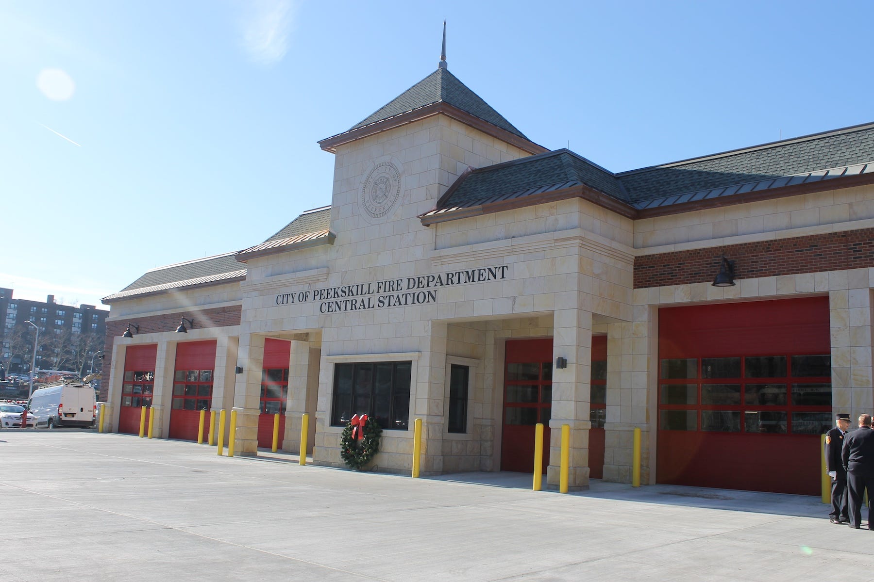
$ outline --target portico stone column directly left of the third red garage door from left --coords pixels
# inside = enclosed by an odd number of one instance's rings
[[[236,366],[243,366],[243,373],[236,374],[236,387],[233,394],[232,412],[237,412],[234,455],[256,456],[258,455],[261,370],[264,367],[264,336],[252,333],[240,336]]]

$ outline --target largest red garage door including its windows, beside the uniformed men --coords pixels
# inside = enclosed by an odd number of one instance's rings
[[[659,312],[659,483],[818,495],[829,299]]]

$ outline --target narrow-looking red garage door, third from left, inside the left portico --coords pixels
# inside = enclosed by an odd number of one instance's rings
[[[282,339],[264,340],[264,367],[261,371],[261,414],[258,417],[258,446],[273,448],[274,418],[279,414],[279,441],[285,435],[285,410],[288,401],[288,359],[291,342]]]

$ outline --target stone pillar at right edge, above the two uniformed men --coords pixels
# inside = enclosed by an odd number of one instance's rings
[[[843,277],[847,288],[841,289]],[[871,414],[871,287],[867,269],[829,273],[831,327],[831,390],[834,412],[850,414],[856,427],[859,414]]]

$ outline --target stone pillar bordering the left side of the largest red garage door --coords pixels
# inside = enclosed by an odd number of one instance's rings
[[[617,483],[631,483],[635,428],[641,429],[641,483],[654,476],[657,312],[635,305],[634,314],[632,323],[607,326],[604,480]]]

